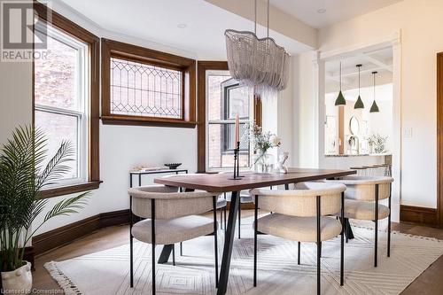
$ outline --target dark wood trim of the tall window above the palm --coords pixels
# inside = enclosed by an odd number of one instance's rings
[[[99,162],[99,64],[100,64],[100,39],[91,34],[89,31],[66,19],[61,14],[52,11],[46,5],[35,2],[34,11],[40,19],[48,21],[51,16],[51,26],[57,27],[68,35],[82,40],[89,45],[89,63],[90,63],[90,113],[89,113],[89,160],[88,160],[88,182],[74,184],[69,186],[57,187],[53,189],[43,190],[41,196],[43,198],[51,198],[70,193],[95,190],[100,185],[100,162]],[[34,123],[34,73],[35,65],[33,63],[33,89],[32,89],[32,106],[33,106],[33,123]]]

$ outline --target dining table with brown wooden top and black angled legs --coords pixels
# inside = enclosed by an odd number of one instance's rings
[[[240,177],[233,179],[231,173],[174,175],[165,178],[155,178],[154,182],[168,186],[184,188],[186,190],[206,190],[214,193],[231,192],[229,218],[225,232],[223,254],[221,258],[220,278],[217,294],[225,294],[228,286],[229,267],[234,244],[237,212],[241,190],[284,185],[287,190],[289,184],[310,182],[322,179],[334,179],[346,175],[356,174],[355,170],[315,169],[315,168],[288,168],[288,173],[254,173],[243,172]],[[167,248],[168,247],[168,248]],[[165,245],[170,250],[171,245]],[[164,250],[165,250],[164,248]],[[163,260],[167,259],[168,251],[163,251]]]

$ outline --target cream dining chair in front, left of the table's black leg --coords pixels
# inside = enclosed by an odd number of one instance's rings
[[[155,246],[174,245],[214,235],[215,285],[218,286],[217,194],[180,192],[178,188],[149,185],[128,190],[130,196],[130,286],[134,286],[133,237],[152,245],[152,294],[155,294]],[[214,219],[198,214],[214,212]],[[133,224],[132,216],[145,218]],[[173,248],[174,249],[174,248]],[[174,254],[174,252],[173,252]],[[175,257],[173,256],[175,264]]]

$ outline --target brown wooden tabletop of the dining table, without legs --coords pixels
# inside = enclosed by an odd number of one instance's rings
[[[324,178],[354,175],[354,170],[305,169],[290,168],[287,174],[240,173],[241,180],[229,179],[232,173],[215,175],[174,175],[167,178],[156,178],[155,183],[211,192],[228,192],[250,190],[271,185],[315,181]]]

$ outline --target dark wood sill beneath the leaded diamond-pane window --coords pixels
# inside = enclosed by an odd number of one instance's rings
[[[195,128],[197,122],[167,118],[106,115],[101,120],[105,125],[158,126],[172,128]]]

